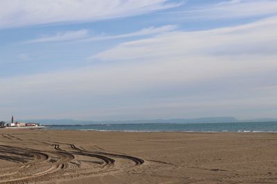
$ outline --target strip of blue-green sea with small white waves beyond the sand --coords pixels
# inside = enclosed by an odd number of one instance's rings
[[[49,126],[50,130],[118,132],[277,132],[277,122],[255,123],[141,123]]]

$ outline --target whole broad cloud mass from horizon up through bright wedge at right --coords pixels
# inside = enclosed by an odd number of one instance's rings
[[[105,65],[0,79],[1,113],[12,105],[24,118],[276,117],[276,30],[271,17],[168,32],[94,56]]]

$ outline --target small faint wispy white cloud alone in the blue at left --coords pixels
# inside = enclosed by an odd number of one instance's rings
[[[53,36],[44,36],[39,39],[33,39],[30,41],[25,41],[24,43],[43,43],[43,42],[57,42],[57,41],[72,41],[76,39],[84,39],[88,37],[87,30],[77,30],[77,31],[66,31],[57,32]]]

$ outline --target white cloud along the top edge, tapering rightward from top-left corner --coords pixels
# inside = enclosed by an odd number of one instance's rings
[[[2,0],[0,28],[87,22],[127,17],[179,6],[168,0]]]

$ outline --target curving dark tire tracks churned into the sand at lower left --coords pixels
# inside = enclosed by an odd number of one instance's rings
[[[11,134],[2,134],[3,138],[10,141],[24,141]],[[32,140],[35,141],[35,140]],[[32,143],[30,139],[24,141]],[[101,151],[84,150],[72,143],[57,143],[51,141],[39,142],[53,147],[52,151],[35,150],[28,147],[16,147],[12,145],[0,145],[0,159],[17,164],[7,168],[0,168],[0,183],[30,183],[39,181],[51,181],[55,178],[68,178],[88,176],[91,174],[103,174],[114,172],[112,169],[118,159],[132,161],[134,166],[144,163],[143,159],[125,154],[114,154]],[[61,146],[62,145],[62,146]],[[85,162],[85,164],[84,164]],[[125,162],[130,164],[129,162]],[[119,167],[119,168],[118,168]],[[127,170],[122,164],[117,170]],[[16,172],[15,172],[16,170]]]

